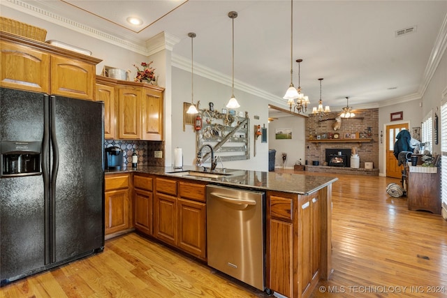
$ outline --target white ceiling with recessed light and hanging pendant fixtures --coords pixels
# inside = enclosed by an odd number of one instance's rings
[[[1,0],[17,2],[18,0]],[[48,13],[145,46],[162,31],[179,38],[173,53],[282,98],[290,84],[291,1],[24,1]],[[420,98],[446,47],[447,1],[293,1],[293,83],[318,104],[373,107]],[[144,23],[132,27],[126,17]],[[416,26],[396,37],[395,31]],[[439,36],[441,34],[441,36]],[[64,40],[61,40],[64,41]],[[434,51],[434,52],[432,52]],[[437,60],[438,59],[438,60]],[[243,98],[235,96],[243,103]],[[308,110],[309,112],[309,110]]]

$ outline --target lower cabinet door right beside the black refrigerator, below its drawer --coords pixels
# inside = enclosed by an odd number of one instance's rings
[[[105,234],[129,228],[129,190],[105,192]]]

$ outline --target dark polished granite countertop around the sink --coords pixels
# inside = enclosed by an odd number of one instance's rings
[[[136,169],[124,167],[122,170],[105,170],[105,174],[116,174],[120,172],[156,174],[160,176],[177,177],[196,181],[209,181],[213,184],[219,184],[222,186],[233,186],[262,191],[282,191],[285,193],[298,193],[300,195],[314,193],[315,191],[318,191],[319,189],[338,180],[335,177],[323,177],[316,175],[233,169],[225,169],[224,172],[221,169],[217,169],[215,172],[212,172],[213,174],[226,174],[222,176],[219,175],[219,177],[185,177],[181,175],[182,173],[180,173],[183,171],[203,172],[201,168],[194,166],[184,166],[182,169],[174,169],[174,167],[140,166]]]

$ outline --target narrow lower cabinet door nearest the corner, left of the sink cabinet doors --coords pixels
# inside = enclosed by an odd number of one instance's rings
[[[152,192],[135,188],[133,191],[135,229],[152,235]]]

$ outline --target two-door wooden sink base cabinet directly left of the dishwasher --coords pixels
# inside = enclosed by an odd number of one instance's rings
[[[206,260],[204,183],[156,177],[154,237]]]

